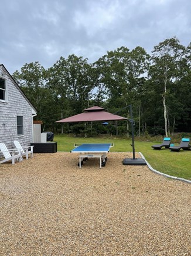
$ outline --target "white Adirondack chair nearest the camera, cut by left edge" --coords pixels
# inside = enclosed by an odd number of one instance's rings
[[[21,152],[16,151],[15,149],[8,149],[4,143],[0,143],[0,152],[2,152],[5,158],[0,161],[0,164],[8,161],[12,161],[12,164],[15,164],[15,160],[22,161]]]

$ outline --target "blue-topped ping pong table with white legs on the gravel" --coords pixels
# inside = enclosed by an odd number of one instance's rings
[[[104,167],[107,161],[107,153],[110,148],[113,147],[113,143],[87,143],[87,144],[75,144],[74,149],[70,153],[79,153],[79,167],[83,165],[84,161],[88,158],[100,158],[100,168]]]

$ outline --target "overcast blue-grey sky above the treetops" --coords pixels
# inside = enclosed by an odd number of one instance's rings
[[[125,46],[148,53],[176,36],[191,42],[190,0],[1,0],[0,64],[52,67],[70,54],[88,62]]]

